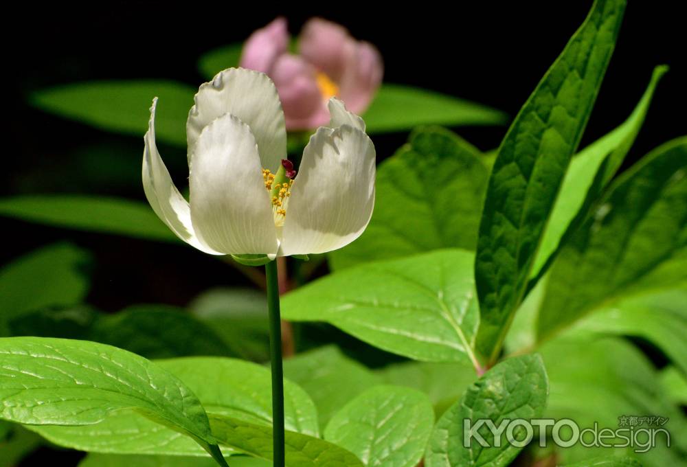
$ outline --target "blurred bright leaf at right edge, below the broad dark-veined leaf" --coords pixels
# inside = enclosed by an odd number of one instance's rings
[[[578,327],[646,339],[687,374],[687,284],[672,291],[620,300],[581,320]]]

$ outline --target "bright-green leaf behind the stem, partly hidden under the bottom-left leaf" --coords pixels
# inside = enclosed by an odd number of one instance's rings
[[[272,420],[269,369],[232,358],[173,358],[156,365],[174,374],[197,395],[208,413],[230,415],[251,426],[269,426]],[[308,395],[284,381],[286,428],[317,435],[317,413]],[[143,418],[117,412],[90,426],[33,426],[60,446],[96,453],[203,456],[190,438]],[[232,448],[223,448],[225,454]]]

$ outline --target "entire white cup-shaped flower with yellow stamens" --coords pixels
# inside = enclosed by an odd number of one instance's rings
[[[159,218],[193,247],[269,258],[324,253],[352,242],[367,227],[374,205],[374,146],[363,119],[340,100],[329,101],[329,126],[317,128],[298,174],[289,180],[281,162],[284,113],[274,84],[247,69],[218,73],[200,87],[188,114],[188,203],[155,146],[156,106],[157,98],[145,136],[144,190]],[[275,190],[279,181],[284,184]]]

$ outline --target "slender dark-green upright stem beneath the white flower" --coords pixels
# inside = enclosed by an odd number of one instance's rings
[[[284,372],[282,371],[282,325],[279,313],[277,262],[270,261],[265,264],[264,271],[267,276],[269,354],[272,368],[273,466],[284,467]]]

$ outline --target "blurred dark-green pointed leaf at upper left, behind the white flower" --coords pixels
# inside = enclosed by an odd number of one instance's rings
[[[29,102],[43,111],[116,133],[143,138],[150,104],[159,98],[155,136],[186,146],[186,118],[196,89],[174,81],[118,80],[65,84],[35,91]]]

